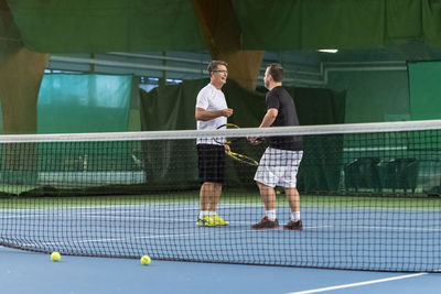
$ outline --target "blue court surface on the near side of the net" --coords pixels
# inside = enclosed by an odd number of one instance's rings
[[[1,293],[440,293],[438,273],[388,273],[49,254],[0,248]]]

